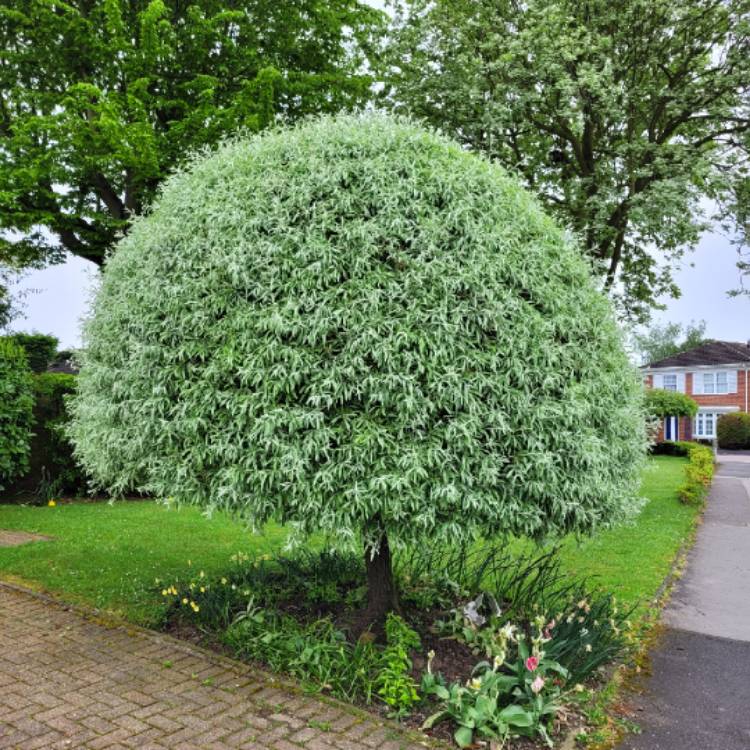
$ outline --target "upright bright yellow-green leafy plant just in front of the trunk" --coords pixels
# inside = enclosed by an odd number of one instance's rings
[[[417,685],[410,675],[409,651],[418,649],[421,642],[419,635],[393,612],[388,613],[385,635],[388,645],[378,672],[378,695],[396,716],[404,716],[419,702]]]

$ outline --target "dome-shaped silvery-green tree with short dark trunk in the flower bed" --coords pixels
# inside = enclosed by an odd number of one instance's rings
[[[110,492],[364,544],[638,508],[642,387],[575,244],[501,168],[381,116],[227,143],[108,263],[72,434]]]

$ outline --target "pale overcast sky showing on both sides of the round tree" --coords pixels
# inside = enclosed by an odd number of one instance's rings
[[[729,298],[727,291],[739,284],[737,255],[719,234],[704,235],[689,263],[677,274],[682,289],[678,300],[665,300],[667,309],[656,313],[658,322],[689,323],[705,320],[711,338],[727,341],[750,339],[750,297]],[[20,288],[36,290],[25,300],[25,317],[14,330],[51,333],[61,347],[80,344],[80,320],[85,314],[89,290],[96,278],[93,264],[80,258],[30,273]]]

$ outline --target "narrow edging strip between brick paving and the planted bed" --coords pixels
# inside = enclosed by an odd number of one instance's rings
[[[423,747],[426,747],[426,748],[434,748],[435,750],[448,750],[448,748],[451,748],[451,750],[455,750],[454,745],[449,745],[446,742],[443,742],[442,740],[438,740],[433,737],[428,737],[426,734],[423,734],[422,732],[416,731],[409,727],[405,727],[402,724],[399,724],[398,722],[392,721],[391,719],[384,718],[373,712],[366,711],[365,709],[359,708],[358,706],[354,706],[350,703],[344,703],[342,701],[337,700],[336,698],[332,698],[322,693],[311,694],[309,692],[305,692],[298,683],[295,683],[294,681],[290,680],[288,677],[281,677],[279,675],[273,674],[272,672],[268,672],[264,669],[256,667],[256,665],[251,666],[249,664],[246,664],[245,662],[231,659],[228,656],[219,654],[215,651],[212,651],[211,649],[205,648],[204,646],[199,646],[197,644],[187,643],[186,641],[181,641],[179,638],[175,638],[174,636],[171,636],[167,633],[162,633],[158,630],[145,628],[141,625],[135,625],[131,622],[128,622],[127,620],[116,617],[115,615],[109,612],[105,612],[105,611],[95,609],[95,608],[86,607],[80,604],[71,604],[70,602],[66,602],[64,599],[61,599],[60,597],[54,594],[50,594],[44,591],[35,591],[34,589],[30,589],[30,588],[27,588],[26,586],[21,586],[17,583],[12,583],[10,581],[3,580],[3,579],[0,579],[0,588],[4,588],[8,591],[13,591],[22,596],[32,597],[34,599],[44,602],[45,604],[56,607],[63,611],[72,612],[73,614],[76,614],[79,617],[82,617],[88,622],[93,622],[105,628],[122,629],[128,633],[132,633],[132,634],[137,633],[144,637],[156,639],[164,644],[168,644],[169,647],[174,649],[175,651],[180,651],[187,655],[201,656],[207,661],[210,661],[212,664],[215,664],[217,666],[222,666],[225,669],[229,669],[235,672],[246,671],[248,669],[252,669],[253,674],[259,677],[260,679],[264,680],[265,682],[267,682],[270,687],[281,688],[283,690],[288,691],[289,693],[293,695],[300,695],[306,698],[312,698],[314,700],[317,700],[318,702],[322,704],[331,706],[342,712],[348,713],[350,716],[357,717],[358,721],[356,723],[369,721],[376,727],[381,727],[385,730],[390,730],[391,732],[397,732],[405,740],[409,740],[416,744],[422,745]],[[512,750],[512,749],[509,747],[508,750]]]

